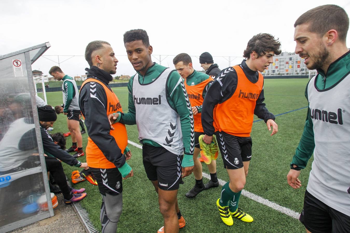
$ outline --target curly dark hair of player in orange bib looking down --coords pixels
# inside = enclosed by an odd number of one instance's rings
[[[250,54],[255,51],[259,57],[264,56],[266,52],[273,51],[275,55],[281,54],[281,43],[278,38],[275,39],[271,34],[259,33],[253,36],[248,44],[247,48],[243,52],[243,57],[250,58]]]

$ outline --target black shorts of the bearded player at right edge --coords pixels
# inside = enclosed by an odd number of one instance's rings
[[[350,216],[324,204],[307,190],[299,220],[307,230],[313,233],[350,232]]]

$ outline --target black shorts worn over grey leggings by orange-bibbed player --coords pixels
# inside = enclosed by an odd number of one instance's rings
[[[98,190],[100,194],[106,196],[118,195],[123,191],[123,183],[118,168],[92,168],[91,173],[96,177]]]

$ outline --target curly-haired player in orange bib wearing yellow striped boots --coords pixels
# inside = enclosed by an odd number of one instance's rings
[[[205,95],[202,108],[203,141],[210,144],[216,138],[227,169],[229,182],[224,184],[217,206],[226,225],[233,225],[232,217],[245,222],[253,218],[238,208],[252,157],[250,132],[254,114],[264,119],[271,136],[277,133],[274,115],[264,103],[264,79],[261,73],[280,54],[281,44],[270,34],[253,36],[244,50],[241,64],[225,68],[215,78]],[[213,125],[214,122],[214,125]]]

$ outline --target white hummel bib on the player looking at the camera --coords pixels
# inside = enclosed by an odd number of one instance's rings
[[[136,114],[136,123],[139,140],[151,139],[168,151],[182,155],[184,146],[180,116],[170,107],[166,98],[166,83],[171,72],[172,70],[167,68],[159,77],[147,84],[141,84],[138,81],[139,75],[135,74],[132,87],[134,104],[136,112],[142,112]],[[181,81],[179,78],[179,84]]]

